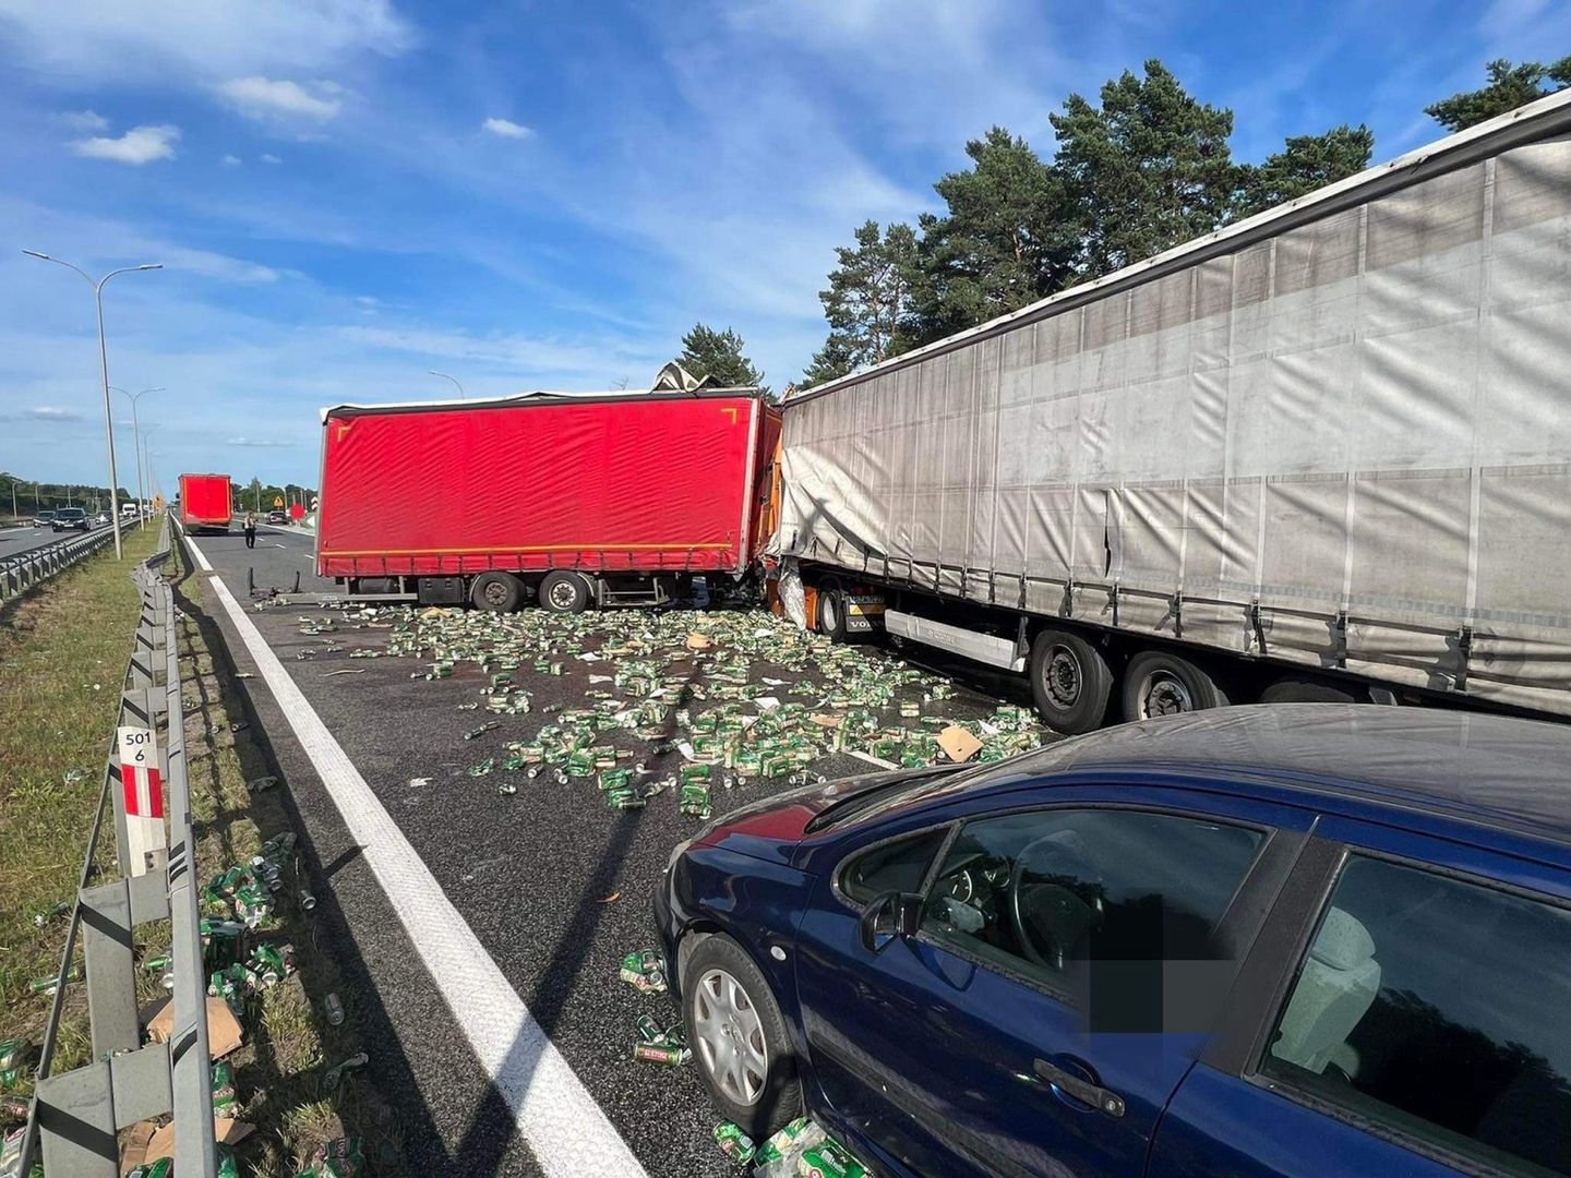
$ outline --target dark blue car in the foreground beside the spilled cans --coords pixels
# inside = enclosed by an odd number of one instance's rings
[[[1571,1173],[1571,727],[1241,707],[809,787],[655,920],[720,1110],[875,1173]]]

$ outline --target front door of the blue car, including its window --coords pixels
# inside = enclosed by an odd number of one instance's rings
[[[823,884],[796,963],[812,1073],[914,1173],[1141,1173],[1310,815],[1128,782],[1009,801]],[[925,867],[921,928],[875,952],[884,859]]]

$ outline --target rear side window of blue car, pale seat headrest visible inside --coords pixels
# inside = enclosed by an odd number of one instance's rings
[[[1491,1167],[1571,1173],[1568,1012],[1571,911],[1354,856],[1260,1070]]]

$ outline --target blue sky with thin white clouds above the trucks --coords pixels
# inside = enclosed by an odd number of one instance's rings
[[[1565,0],[0,0],[0,468],[104,482],[91,291],[24,248],[165,264],[105,287],[165,487],[314,482],[317,408],[427,369],[639,386],[702,319],[784,385],[858,223],[935,209],[990,124],[1051,154],[1147,57],[1240,159],[1348,121],[1379,160],[1488,58],[1566,52]]]

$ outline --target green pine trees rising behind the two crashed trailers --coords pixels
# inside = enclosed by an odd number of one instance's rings
[[[1425,113],[1450,132],[1571,86],[1571,57],[1486,66],[1485,86]],[[796,382],[822,385],[1152,258],[1368,166],[1375,134],[1338,126],[1288,137],[1260,163],[1233,160],[1233,112],[1200,102],[1158,60],[1070,94],[1048,116],[1042,159],[1004,127],[966,143],[971,166],[941,176],[944,212],[866,221],[836,250],[818,292],[828,338]],[[716,385],[765,388],[734,330],[696,324],[680,363]]]

